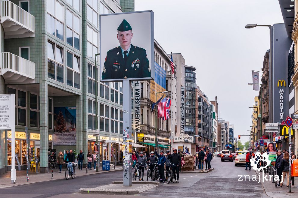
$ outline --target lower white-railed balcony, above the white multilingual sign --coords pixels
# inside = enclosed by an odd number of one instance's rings
[[[10,52],[2,52],[1,75],[5,84],[34,83],[35,63]]]

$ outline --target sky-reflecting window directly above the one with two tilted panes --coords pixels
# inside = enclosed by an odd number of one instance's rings
[[[63,41],[63,5],[54,0],[47,1],[48,15],[47,15],[47,24],[48,24],[48,33],[56,36],[57,38]]]

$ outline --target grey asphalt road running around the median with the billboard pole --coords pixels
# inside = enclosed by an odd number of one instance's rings
[[[179,184],[162,184],[144,191],[138,197],[264,197],[264,189],[257,181],[238,181],[238,175],[255,174],[255,171],[246,171],[245,167],[234,167],[234,162],[221,162],[215,157],[211,162],[215,170],[204,174],[180,173]],[[76,177],[75,179],[61,179],[39,182],[15,187],[0,189],[2,198],[6,197],[132,197],[83,195],[79,193],[82,187],[98,187],[111,184],[112,181],[122,180],[122,171],[101,173]]]

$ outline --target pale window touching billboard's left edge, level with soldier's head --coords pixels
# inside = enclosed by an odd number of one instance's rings
[[[95,54],[98,53],[98,33],[89,26],[87,26],[87,40],[87,55],[95,59]]]

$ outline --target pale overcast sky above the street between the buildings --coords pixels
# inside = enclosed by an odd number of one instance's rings
[[[249,135],[254,96],[251,70],[261,71],[269,28],[283,23],[278,0],[135,0],[135,11],[153,10],[154,38],[167,53],[181,53],[197,68],[197,85],[217,96],[218,117],[234,125],[234,137]],[[244,144],[248,136],[242,136]]]

